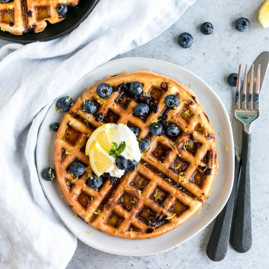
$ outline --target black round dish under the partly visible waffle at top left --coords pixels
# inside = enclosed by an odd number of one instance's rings
[[[76,7],[68,9],[65,20],[55,24],[47,22],[45,30],[40,33],[27,33],[17,36],[10,34],[9,32],[0,31],[0,39],[9,42],[28,44],[31,42],[48,41],[61,37],[76,28],[79,23],[90,14],[90,11],[97,1],[98,0],[80,0]]]

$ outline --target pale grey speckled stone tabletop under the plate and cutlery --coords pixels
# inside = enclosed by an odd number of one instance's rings
[[[183,16],[155,40],[119,57],[150,57],[186,67],[202,77],[220,96],[227,111],[232,113],[233,91],[226,83],[240,63],[251,64],[264,50],[269,50],[269,28],[259,24],[258,11],[263,0],[197,0]],[[245,33],[238,32],[234,22],[239,17],[250,20]],[[199,30],[202,22],[212,22],[215,30],[204,36]],[[189,49],[181,49],[177,37],[181,32],[194,36]],[[0,41],[0,46],[6,42]],[[268,268],[269,243],[269,77],[262,94],[262,115],[254,123],[251,147],[251,196],[253,245],[249,252],[239,254],[231,247],[225,259],[212,262],[205,249],[213,225],[188,242],[168,252],[148,257],[124,257],[107,254],[78,241],[78,247],[67,269],[264,269]],[[113,247],[113,246],[111,246]]]

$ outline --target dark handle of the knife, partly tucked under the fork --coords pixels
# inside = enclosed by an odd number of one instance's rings
[[[219,262],[224,259],[230,237],[237,182],[241,167],[240,157],[235,155],[234,181],[230,197],[223,210],[216,218],[211,236],[209,238],[206,253],[209,259]]]

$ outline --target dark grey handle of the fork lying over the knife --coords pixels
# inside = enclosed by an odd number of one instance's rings
[[[250,134],[243,132],[242,167],[238,187],[236,210],[231,245],[241,253],[247,252],[252,244],[250,206]]]

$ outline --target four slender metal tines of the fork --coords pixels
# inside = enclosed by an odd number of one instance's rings
[[[261,65],[258,65],[257,77],[254,78],[254,66],[251,66],[250,70],[250,79],[247,80],[247,65],[245,68],[245,75],[243,81],[242,88],[242,102],[241,102],[241,65],[238,70],[237,84],[236,84],[236,95],[235,95],[235,107],[237,110],[252,110],[253,109],[253,84],[255,82],[255,91],[254,91],[254,109],[259,109],[259,92],[260,92],[260,77],[261,77]],[[248,92],[247,92],[247,84],[249,83]],[[248,96],[247,96],[248,95]],[[248,97],[248,98],[247,98]],[[248,101],[247,101],[248,100]]]

